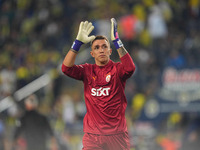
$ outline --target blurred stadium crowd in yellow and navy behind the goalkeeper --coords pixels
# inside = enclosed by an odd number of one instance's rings
[[[155,125],[142,117],[142,111],[161,88],[160,76],[166,67],[200,67],[199,0],[0,0],[0,100],[48,73],[51,83],[35,93],[39,110],[49,117],[61,145],[80,149],[86,111],[83,86],[63,76],[60,64],[80,21],[92,21],[93,34],[109,37],[112,17],[137,67],[125,91],[132,149],[198,149],[198,113],[171,112]],[[87,48],[81,51],[90,55]],[[119,60],[115,51],[111,58]],[[87,56],[81,63],[92,61]],[[19,102],[0,112],[1,150],[10,149],[15,121],[22,111]]]

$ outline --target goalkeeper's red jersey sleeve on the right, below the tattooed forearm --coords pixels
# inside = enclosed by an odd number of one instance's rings
[[[135,64],[131,56],[129,55],[129,53],[121,57],[120,60],[121,60],[121,63],[119,63],[118,65],[118,74],[120,78],[126,80],[130,78],[131,75],[134,73]]]

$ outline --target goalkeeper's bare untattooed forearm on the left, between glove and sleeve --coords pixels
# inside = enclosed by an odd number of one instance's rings
[[[77,53],[73,49],[69,50],[69,52],[65,56],[63,64],[67,67],[72,67],[75,63],[76,56],[77,56]]]

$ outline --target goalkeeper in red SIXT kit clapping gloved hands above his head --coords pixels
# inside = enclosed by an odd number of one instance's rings
[[[62,64],[65,75],[84,83],[87,113],[83,120],[83,150],[129,150],[124,89],[135,65],[119,39],[114,18],[111,19],[111,40],[121,62],[110,59],[112,49],[106,37],[89,36],[93,29],[91,22],[80,23],[76,40]],[[89,42],[95,64],[75,65],[81,45]]]

